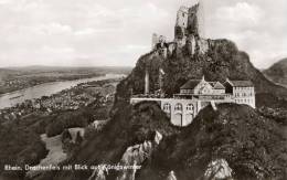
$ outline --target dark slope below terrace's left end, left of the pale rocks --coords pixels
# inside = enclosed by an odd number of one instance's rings
[[[132,107],[121,104],[113,119],[103,130],[86,139],[78,151],[63,165],[117,165],[127,147],[144,142],[152,137],[155,130],[163,136],[177,134],[180,129],[169,123],[167,115],[157,103],[141,103]],[[92,171],[47,172],[39,180],[87,180]],[[117,171],[109,171],[107,179],[116,179]]]

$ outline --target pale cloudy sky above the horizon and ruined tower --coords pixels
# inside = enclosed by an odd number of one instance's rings
[[[0,67],[135,66],[151,35],[173,40],[198,0],[0,0]],[[204,34],[230,39],[266,68],[287,57],[286,0],[205,0]]]

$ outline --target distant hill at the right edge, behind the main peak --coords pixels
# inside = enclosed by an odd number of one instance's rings
[[[283,59],[263,71],[267,78],[287,87],[287,59]]]

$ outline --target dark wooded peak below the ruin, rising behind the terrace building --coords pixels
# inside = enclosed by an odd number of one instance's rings
[[[286,98],[287,89],[268,81],[253,66],[247,53],[242,52],[228,40],[208,40],[212,44],[205,53],[190,55],[190,44],[176,49],[171,55],[163,57],[157,51],[142,55],[131,74],[123,81],[117,91],[117,99],[125,100],[134,94],[144,93],[145,71],[150,72],[150,89],[157,89],[159,68],[164,71],[163,91],[168,96],[179,92],[179,87],[190,78],[224,82],[230,80],[249,80],[255,85],[256,96],[264,98]],[[256,104],[257,107],[267,104]]]

